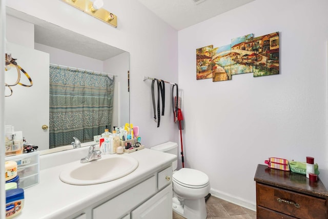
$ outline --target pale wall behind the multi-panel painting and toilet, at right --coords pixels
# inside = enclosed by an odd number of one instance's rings
[[[209,175],[213,194],[254,209],[257,164],[273,156],[313,156],[327,175],[327,11],[325,0],[256,0],[179,31],[185,162]],[[279,75],[196,80],[197,48],[276,31]]]

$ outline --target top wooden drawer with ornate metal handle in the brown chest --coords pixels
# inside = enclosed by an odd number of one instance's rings
[[[325,199],[259,183],[256,184],[256,203],[258,206],[298,218],[327,218]]]

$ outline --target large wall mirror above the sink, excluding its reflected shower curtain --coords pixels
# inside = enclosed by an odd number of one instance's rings
[[[72,148],[69,145],[49,150],[49,130],[42,129],[43,125],[49,127],[50,65],[117,75],[112,125],[120,127],[129,123],[129,52],[12,8],[6,10],[6,52],[17,58],[18,65],[33,80],[32,87],[15,86],[12,96],[5,98],[6,125],[22,131],[26,140],[44,153]]]

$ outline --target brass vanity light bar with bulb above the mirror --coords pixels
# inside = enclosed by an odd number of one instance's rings
[[[104,5],[103,0],[63,0],[67,4],[78,8],[81,11],[94,16],[101,21],[117,27],[117,16],[102,8]]]

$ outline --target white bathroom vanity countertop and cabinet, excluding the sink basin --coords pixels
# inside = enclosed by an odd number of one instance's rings
[[[40,183],[25,189],[24,209],[15,218],[172,218],[175,155],[150,149],[124,153],[139,162],[137,169],[124,177],[95,185],[61,182],[59,174],[70,165],[69,157],[85,156],[87,149],[44,155],[48,156],[47,161],[41,156]],[[103,155],[106,156],[111,154]]]

